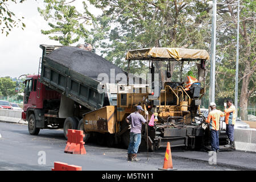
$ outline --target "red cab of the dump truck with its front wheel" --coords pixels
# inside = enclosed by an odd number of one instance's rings
[[[28,131],[33,135],[47,127],[45,114],[57,109],[61,98],[59,92],[39,82],[39,78],[40,75],[28,75],[24,81],[22,119],[28,121]]]

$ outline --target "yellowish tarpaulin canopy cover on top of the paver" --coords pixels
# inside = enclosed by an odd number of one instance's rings
[[[185,49],[185,48],[168,48],[168,47],[153,47],[135,49],[127,52],[126,59],[143,59],[154,60],[160,59],[205,59],[209,60],[209,54],[204,49]]]

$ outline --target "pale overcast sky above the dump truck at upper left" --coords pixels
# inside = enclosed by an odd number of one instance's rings
[[[26,28],[14,28],[7,37],[6,34],[0,34],[0,77],[18,78],[26,73],[38,73],[42,57],[40,44],[60,45],[59,42],[49,40],[48,35],[41,34],[41,30],[50,28],[37,11],[37,7],[44,7],[42,2],[29,0],[10,5],[10,10],[16,16],[24,17]],[[78,43],[82,42],[75,44]]]

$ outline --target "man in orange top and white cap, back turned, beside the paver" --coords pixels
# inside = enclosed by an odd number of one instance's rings
[[[214,102],[210,103],[209,109],[211,109],[211,111],[209,112],[205,122],[209,123],[210,125],[211,150],[218,152],[220,150],[218,142],[218,130],[220,129],[220,117],[224,117],[224,113],[216,109],[216,104]]]

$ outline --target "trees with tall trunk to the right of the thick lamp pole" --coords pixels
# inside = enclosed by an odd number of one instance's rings
[[[225,3],[236,3],[228,0]],[[242,120],[247,119],[247,104],[255,92],[255,1],[240,1],[239,105]],[[216,95],[222,104],[226,98],[234,101],[236,74],[237,6],[222,5],[217,18]],[[254,96],[255,97],[255,96]]]

